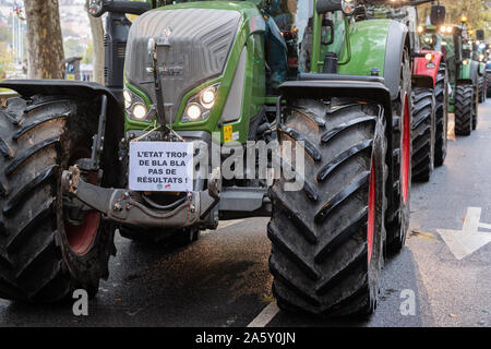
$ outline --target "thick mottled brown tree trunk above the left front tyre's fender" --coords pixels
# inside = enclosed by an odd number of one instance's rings
[[[24,0],[28,38],[28,79],[62,79],[63,39],[58,0]]]

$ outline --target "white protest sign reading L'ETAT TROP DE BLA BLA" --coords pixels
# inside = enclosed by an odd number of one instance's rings
[[[129,184],[135,191],[192,191],[193,144],[131,142]]]

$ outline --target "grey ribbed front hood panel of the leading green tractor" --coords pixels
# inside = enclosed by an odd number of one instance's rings
[[[149,38],[157,43],[166,121],[176,121],[183,96],[200,84],[220,76],[239,28],[241,13],[217,9],[149,11],[130,29],[125,80],[156,104]],[[165,36],[165,37],[164,37]]]

